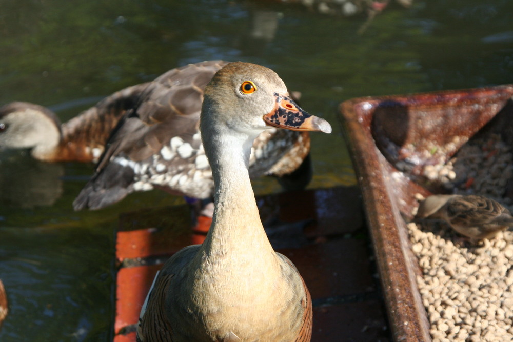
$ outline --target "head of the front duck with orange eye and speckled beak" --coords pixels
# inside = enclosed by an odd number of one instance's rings
[[[233,62],[219,70],[205,88],[202,136],[231,131],[252,140],[263,130],[331,133],[329,123],[305,112],[290,98],[282,79],[272,70]]]

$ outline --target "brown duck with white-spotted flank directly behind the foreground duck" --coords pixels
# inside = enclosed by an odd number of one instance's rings
[[[157,188],[190,203],[200,201],[196,212],[210,216],[214,186],[199,131],[200,110],[206,84],[227,64],[189,64],[151,82],[112,131],[73,208],[102,209],[131,192]],[[302,189],[311,179],[309,150],[307,131],[266,130],[253,142],[250,177],[274,176],[285,190]]]

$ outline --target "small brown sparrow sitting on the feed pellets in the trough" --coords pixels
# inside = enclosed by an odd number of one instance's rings
[[[480,195],[432,195],[419,205],[415,220],[445,220],[472,243],[513,226],[513,216],[496,200]]]

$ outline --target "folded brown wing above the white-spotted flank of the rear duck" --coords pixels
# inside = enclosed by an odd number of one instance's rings
[[[120,120],[96,171],[125,154],[138,162],[151,157],[173,136],[185,141],[197,131],[203,89],[227,62],[207,61],[173,69],[151,82],[139,103]],[[185,96],[184,95],[188,95]]]

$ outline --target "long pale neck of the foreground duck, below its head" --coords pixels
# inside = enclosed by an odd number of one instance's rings
[[[215,209],[202,254],[215,256],[216,262],[224,267],[230,267],[229,263],[238,269],[244,269],[241,263],[260,264],[257,267],[276,263],[249,179],[252,142],[247,135],[223,137],[222,143],[213,144],[214,153],[210,153],[214,156],[209,160],[215,183]],[[233,255],[237,255],[237,260]]]

